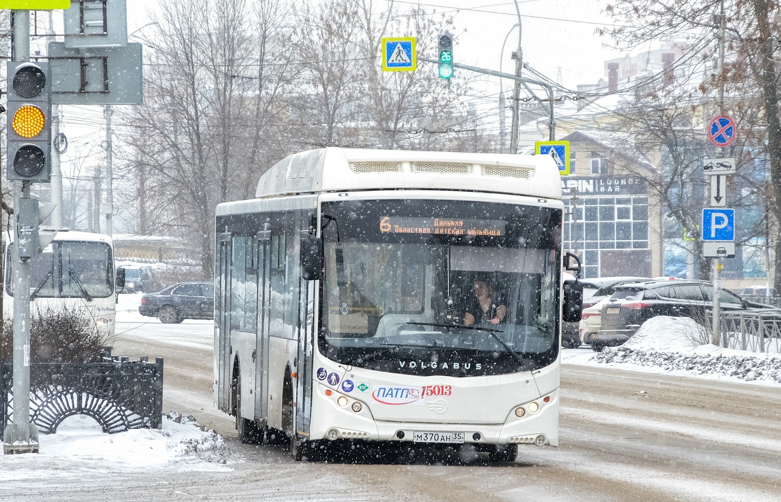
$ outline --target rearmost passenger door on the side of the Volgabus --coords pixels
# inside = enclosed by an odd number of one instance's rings
[[[214,379],[217,408],[230,412],[230,233],[219,234],[219,289],[215,291],[217,329],[214,340]]]

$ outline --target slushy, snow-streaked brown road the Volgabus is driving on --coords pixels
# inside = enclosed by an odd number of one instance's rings
[[[237,443],[232,417],[213,408],[212,322],[162,325],[130,312],[118,328],[114,353],[165,358],[163,410],[223,435],[227,465],[90,469],[32,482],[11,499],[0,490],[0,500],[779,500],[779,386],[565,364],[561,446],[522,447],[515,464],[298,463],[279,447]],[[584,351],[565,351],[565,361]]]

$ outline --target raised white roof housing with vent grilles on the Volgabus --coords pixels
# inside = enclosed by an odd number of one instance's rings
[[[260,177],[255,197],[394,188],[562,198],[558,167],[549,155],[355,148],[288,155]]]

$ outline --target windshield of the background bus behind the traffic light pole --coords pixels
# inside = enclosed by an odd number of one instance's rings
[[[5,290],[13,296],[12,251],[6,259]],[[105,242],[55,240],[30,258],[30,298],[109,297],[114,292],[114,258]]]

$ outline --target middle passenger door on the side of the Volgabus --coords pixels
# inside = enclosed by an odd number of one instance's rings
[[[258,238],[258,329],[255,336],[255,417],[268,421],[269,406],[269,309],[271,308],[269,242],[271,232],[262,230]]]

